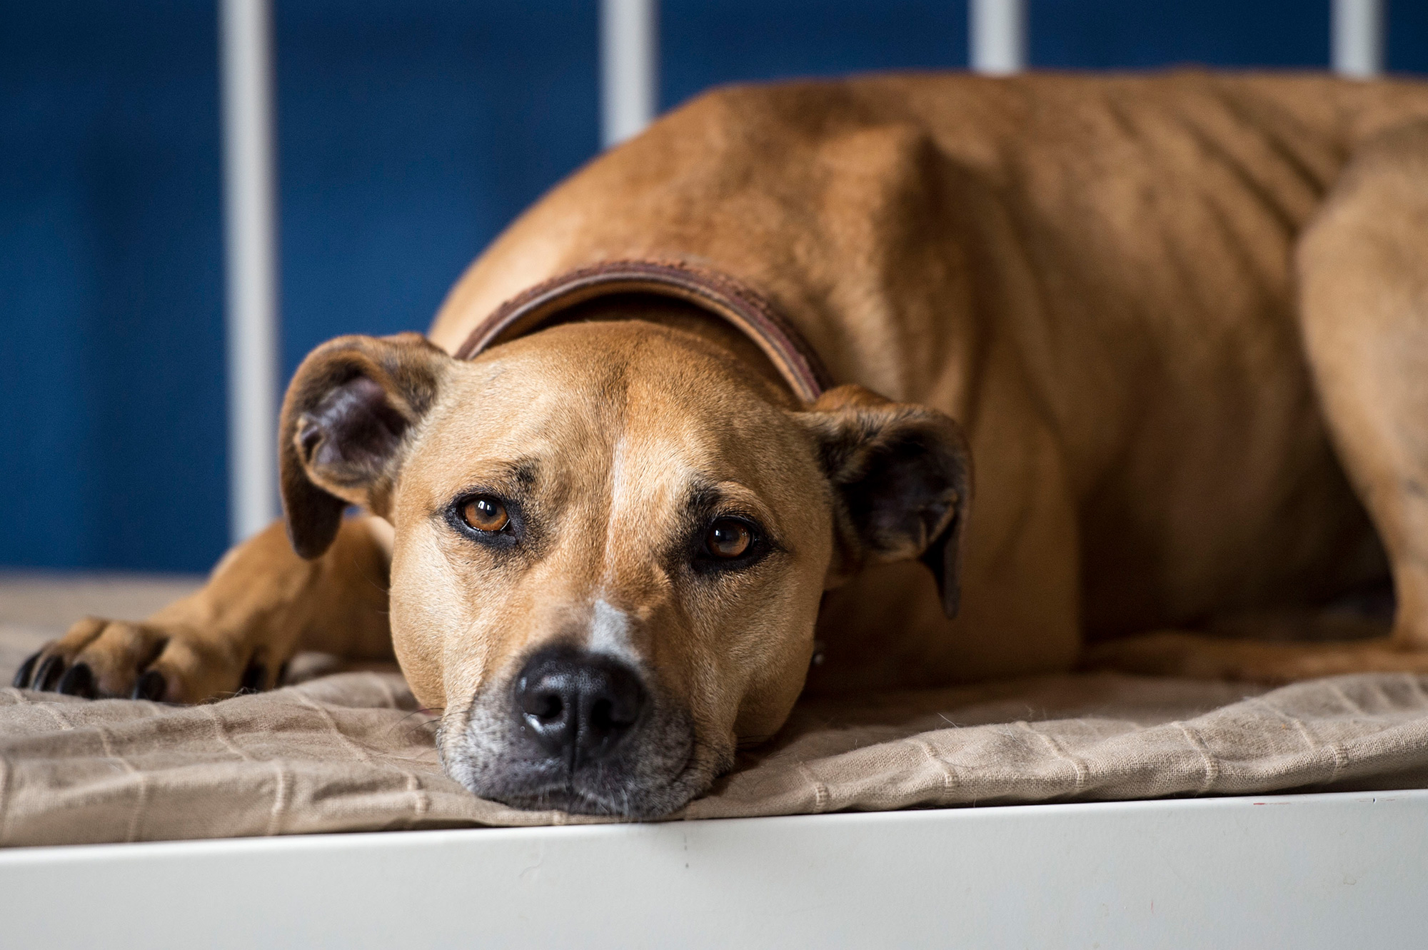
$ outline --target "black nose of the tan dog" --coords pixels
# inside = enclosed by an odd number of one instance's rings
[[[598,653],[543,650],[516,678],[518,730],[570,769],[610,755],[644,705],[635,672]]]

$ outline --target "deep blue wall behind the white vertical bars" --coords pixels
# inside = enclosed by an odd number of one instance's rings
[[[277,0],[286,371],[423,328],[594,154],[594,0]],[[1428,71],[1428,3],[1389,64]],[[1054,67],[1324,66],[1328,3],[1031,0]],[[198,571],[226,543],[214,4],[0,1],[0,565]],[[965,64],[945,0],[665,0],[665,107]]]

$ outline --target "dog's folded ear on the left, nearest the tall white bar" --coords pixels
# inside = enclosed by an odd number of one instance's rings
[[[407,434],[453,359],[420,334],[338,337],[303,361],[283,399],[278,475],[293,549],[317,558],[347,505],[386,515]]]

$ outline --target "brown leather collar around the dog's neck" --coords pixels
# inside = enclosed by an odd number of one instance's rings
[[[605,261],[537,284],[497,307],[456,357],[471,359],[550,325],[575,304],[607,294],[674,297],[724,318],[758,344],[804,402],[814,402],[831,385],[818,355],[768,300],[728,274],[665,261]]]

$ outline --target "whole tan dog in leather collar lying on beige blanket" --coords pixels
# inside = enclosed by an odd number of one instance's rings
[[[476,793],[653,816],[815,636],[824,690],[1428,672],[1428,86],[718,91],[518,220],[431,342],[320,347],[281,451],[298,553],[17,683],[198,702],[390,642]],[[1389,576],[1391,636],[1195,632]]]

